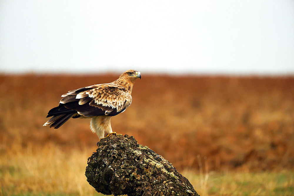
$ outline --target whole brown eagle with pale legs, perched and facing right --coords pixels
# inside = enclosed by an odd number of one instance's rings
[[[46,118],[51,117],[43,126],[58,129],[70,118],[91,118],[90,128],[99,139],[113,134],[110,118],[122,113],[132,103],[132,89],[141,73],[130,69],[116,81],[95,84],[63,94],[59,105],[49,110]]]

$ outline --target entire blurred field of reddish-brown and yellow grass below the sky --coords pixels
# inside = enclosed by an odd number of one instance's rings
[[[0,195],[99,195],[88,119],[42,125],[69,90],[117,75],[0,75]],[[113,131],[133,135],[200,195],[293,195],[294,78],[144,75]]]

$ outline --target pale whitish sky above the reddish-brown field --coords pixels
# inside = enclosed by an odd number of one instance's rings
[[[294,74],[294,1],[1,0],[0,72]]]

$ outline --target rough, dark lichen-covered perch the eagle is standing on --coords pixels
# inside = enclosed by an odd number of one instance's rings
[[[86,177],[105,195],[198,195],[171,163],[133,136],[110,135],[88,158]]]

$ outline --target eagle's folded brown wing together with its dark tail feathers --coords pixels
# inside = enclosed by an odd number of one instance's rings
[[[127,89],[114,83],[79,88],[62,95],[59,106],[49,110],[52,117],[45,125],[55,129],[67,120],[100,115],[115,116],[131,105],[132,97]]]

